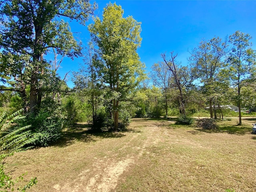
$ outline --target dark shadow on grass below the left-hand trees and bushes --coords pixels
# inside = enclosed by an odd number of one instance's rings
[[[53,145],[64,147],[74,143],[75,141],[93,142],[96,141],[97,138],[120,138],[125,136],[122,132],[95,131],[90,128],[90,124],[76,124],[62,132],[62,136],[58,142],[55,142]]]

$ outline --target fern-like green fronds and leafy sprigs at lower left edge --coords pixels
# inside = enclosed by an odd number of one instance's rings
[[[12,114],[4,112],[0,116],[0,189],[1,192],[14,191],[14,185],[23,180],[22,174],[16,179],[12,179],[9,174],[4,172],[4,159],[12,155],[13,152],[26,150],[31,148],[31,144],[38,139],[37,134],[32,134],[29,128],[31,125],[20,127],[18,122],[24,120],[25,116],[22,116],[23,110],[18,110]],[[27,188],[30,188],[37,183],[36,178],[31,180],[23,187],[18,187],[17,191],[24,192]]]

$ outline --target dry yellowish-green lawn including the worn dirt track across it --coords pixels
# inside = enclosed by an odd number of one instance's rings
[[[127,132],[66,130],[53,146],[14,154],[7,171],[37,176],[32,192],[256,191],[256,118],[219,121],[219,130],[133,119]]]

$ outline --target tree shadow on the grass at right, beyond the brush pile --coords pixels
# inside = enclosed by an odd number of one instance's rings
[[[191,134],[201,134],[202,132],[204,133],[228,133],[228,134],[236,134],[236,135],[245,135],[248,134],[252,131],[251,128],[248,127],[243,127],[243,126],[224,126],[220,127],[217,130],[206,130],[202,128],[196,128],[193,131],[188,131]]]

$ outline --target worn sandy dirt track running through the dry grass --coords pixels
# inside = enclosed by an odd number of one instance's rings
[[[94,158],[94,163],[91,169],[86,169],[80,172],[78,177],[74,179],[74,182],[66,183],[64,186],[59,184],[54,185],[55,191],[59,192],[110,192],[113,191],[118,182],[120,176],[129,169],[130,166],[136,163],[136,160],[147,153],[146,147],[157,145],[161,140],[163,129],[160,128],[164,125],[171,124],[172,122],[154,122],[152,121],[141,122],[142,129],[140,133],[133,133],[131,139],[120,146],[116,153],[110,153],[109,156],[104,156],[101,159]],[[130,128],[138,125],[138,122],[134,120],[131,123]],[[131,134],[131,133],[130,133]],[[142,136],[141,136],[142,134]],[[140,137],[138,137],[140,135]],[[144,138],[143,144],[139,138]],[[130,149],[128,149],[130,148]],[[115,158],[119,152],[127,150],[125,157],[120,160]]]

